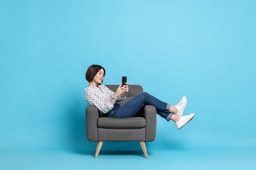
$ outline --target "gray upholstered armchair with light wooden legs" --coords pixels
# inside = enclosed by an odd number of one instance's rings
[[[110,90],[116,92],[119,85],[106,85]],[[119,105],[127,103],[143,89],[139,85],[129,85],[126,99]],[[145,158],[148,158],[146,142],[154,141],[156,138],[156,108],[146,105],[140,114],[133,118],[108,118],[98,112],[94,106],[86,109],[87,138],[90,142],[98,142],[95,158],[98,157],[100,148],[104,141],[139,141]]]

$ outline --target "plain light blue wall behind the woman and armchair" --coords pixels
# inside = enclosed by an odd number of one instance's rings
[[[91,64],[104,84],[129,84],[175,105],[148,150],[255,150],[255,1],[1,1],[0,149],[94,151],[83,89]],[[102,150],[136,148],[104,143]]]

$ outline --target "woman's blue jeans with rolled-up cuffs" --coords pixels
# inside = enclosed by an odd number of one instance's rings
[[[173,114],[169,112],[171,105],[160,101],[160,99],[146,92],[140,93],[122,106],[115,103],[113,109],[111,109],[106,116],[110,118],[130,118],[138,114],[145,105],[153,105],[156,107],[156,112],[167,121],[173,116]]]

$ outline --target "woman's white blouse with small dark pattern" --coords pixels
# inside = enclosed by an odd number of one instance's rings
[[[85,100],[92,106],[95,106],[100,112],[107,114],[114,105],[110,103],[110,99],[114,95],[114,92],[101,84],[96,87],[85,88]],[[121,101],[120,96],[117,97],[116,101]]]

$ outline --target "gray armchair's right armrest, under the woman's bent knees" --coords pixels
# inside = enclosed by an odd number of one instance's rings
[[[146,105],[143,114],[146,119],[146,141],[154,141],[156,138],[156,107]]]

